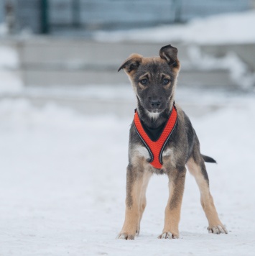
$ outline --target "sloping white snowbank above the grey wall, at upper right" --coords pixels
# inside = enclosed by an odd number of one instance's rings
[[[119,42],[186,42],[198,44],[254,43],[255,11],[218,14],[196,18],[187,24],[172,24],[149,29],[119,32],[97,32],[96,40]]]

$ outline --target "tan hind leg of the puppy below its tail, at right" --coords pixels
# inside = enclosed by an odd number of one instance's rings
[[[211,196],[210,194],[209,179],[208,174],[206,172],[203,157],[199,157],[199,155],[197,154],[196,161],[194,160],[193,157],[190,157],[190,159],[187,161],[187,168],[190,171],[190,173],[195,177],[195,180],[198,183],[201,196],[201,205],[203,207],[203,210],[205,211],[205,215],[209,223],[209,233],[228,234],[228,230],[226,229],[226,227],[224,227],[224,225],[218,218],[218,213],[213,203],[213,196]]]

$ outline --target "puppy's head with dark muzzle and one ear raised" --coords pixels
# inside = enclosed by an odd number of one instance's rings
[[[121,65],[121,69],[129,76],[139,105],[148,114],[153,116],[153,113],[160,114],[172,109],[175,83],[180,71],[177,48],[164,46],[159,50],[159,57],[154,58],[132,54]]]

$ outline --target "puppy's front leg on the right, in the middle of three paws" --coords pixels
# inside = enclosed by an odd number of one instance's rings
[[[185,185],[186,168],[171,170],[169,178],[169,198],[164,211],[164,229],[158,238],[179,238],[180,209]]]

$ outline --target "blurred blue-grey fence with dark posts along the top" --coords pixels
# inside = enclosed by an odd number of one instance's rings
[[[17,31],[29,28],[35,33],[80,32],[85,35],[96,29],[149,27],[187,22],[193,17],[241,12],[250,9],[253,0],[4,1],[14,9]]]

